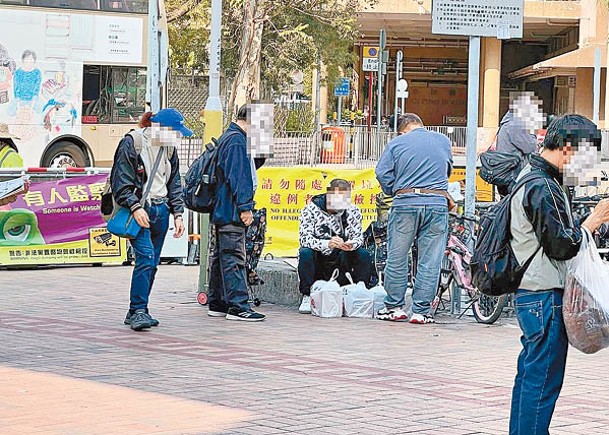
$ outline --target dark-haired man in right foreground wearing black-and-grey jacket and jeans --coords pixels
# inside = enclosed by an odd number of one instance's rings
[[[533,155],[519,175],[536,177],[511,200],[512,249],[520,264],[532,258],[514,302],[523,349],[512,393],[511,435],[548,434],[567,359],[564,261],[578,254],[582,240],[562,185],[576,182],[565,175],[590,166],[590,151],[598,153],[600,143],[600,131],[583,116],[554,120],[541,155]],[[582,226],[594,232],[606,221],[609,200],[601,201]]]

